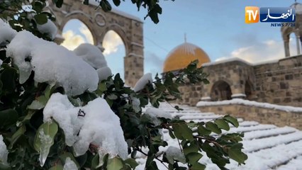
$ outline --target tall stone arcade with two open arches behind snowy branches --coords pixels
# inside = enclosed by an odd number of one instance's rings
[[[94,45],[102,49],[102,41],[108,30],[114,30],[123,40],[126,55],[124,57],[125,84],[134,86],[144,72],[142,21],[140,18],[130,16],[113,9],[104,12],[93,5],[83,5],[82,1],[65,0],[61,8],[57,8],[52,0],[48,0],[47,9],[57,18],[58,34],[62,35],[62,29],[67,21],[78,19],[91,31]],[[59,42],[56,41],[55,42]]]

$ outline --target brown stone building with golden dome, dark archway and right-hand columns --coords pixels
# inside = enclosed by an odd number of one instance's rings
[[[181,86],[183,98],[178,103],[196,106],[198,101],[223,101],[243,98],[251,101],[302,107],[302,4],[295,3],[295,27],[282,27],[285,56],[283,59],[252,64],[231,58],[211,62],[200,47],[185,42],[167,56],[163,72],[176,71],[198,59],[204,72],[209,74],[210,84]],[[296,35],[298,55],[289,54],[289,35]]]

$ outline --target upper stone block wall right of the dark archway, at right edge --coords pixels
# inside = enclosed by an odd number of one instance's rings
[[[255,69],[255,101],[302,106],[302,56],[288,57]]]

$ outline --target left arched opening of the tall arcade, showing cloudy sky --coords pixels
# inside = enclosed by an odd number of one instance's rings
[[[62,46],[68,50],[74,50],[82,43],[89,43],[94,45],[94,38],[89,28],[78,19],[69,20],[62,31],[62,37],[65,40]]]

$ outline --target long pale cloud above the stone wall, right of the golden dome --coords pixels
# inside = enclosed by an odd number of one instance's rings
[[[290,42],[291,55],[296,55],[296,45]],[[216,61],[237,57],[251,63],[267,62],[284,58],[284,44],[281,41],[267,40],[247,47],[240,47],[230,52],[230,55],[218,58]]]

